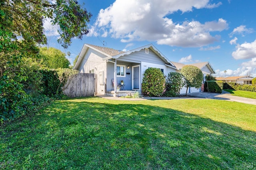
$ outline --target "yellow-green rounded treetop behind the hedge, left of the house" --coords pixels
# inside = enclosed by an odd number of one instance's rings
[[[65,53],[59,49],[42,47],[40,48],[39,56],[42,59],[42,63],[50,69],[69,68],[70,62],[66,59]]]

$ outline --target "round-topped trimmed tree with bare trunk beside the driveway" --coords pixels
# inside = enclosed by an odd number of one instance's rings
[[[187,87],[186,95],[188,93],[189,87],[195,87],[200,88],[203,81],[203,73],[202,71],[195,66],[192,65],[186,65],[182,67],[181,73],[184,75],[186,81],[185,81],[185,87]]]

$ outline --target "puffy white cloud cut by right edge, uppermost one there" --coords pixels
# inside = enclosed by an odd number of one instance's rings
[[[236,45],[236,51],[232,52],[234,59],[250,59],[256,57],[256,40],[252,43]]]

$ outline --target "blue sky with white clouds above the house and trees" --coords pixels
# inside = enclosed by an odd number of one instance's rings
[[[82,45],[128,51],[152,43],[170,61],[209,61],[216,77],[256,77],[255,0],[80,0],[92,13],[90,34],[68,49],[57,43],[57,26],[44,27],[49,46],[70,51]],[[224,71],[227,71],[224,73]]]

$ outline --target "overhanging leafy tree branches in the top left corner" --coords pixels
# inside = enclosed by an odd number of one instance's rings
[[[87,23],[92,14],[78,4],[77,0],[38,1],[38,0],[12,0],[1,3],[4,19],[12,22],[6,30],[22,37],[26,44],[46,43],[43,22],[50,18],[52,24],[60,26],[59,42],[67,48],[72,38],[81,39],[88,34]],[[46,21],[47,22],[47,21]]]

